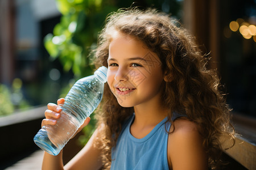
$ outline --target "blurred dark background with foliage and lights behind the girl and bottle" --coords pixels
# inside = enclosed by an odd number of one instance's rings
[[[209,68],[218,70],[233,113],[256,119],[255,0],[1,0],[0,169],[38,149],[32,138],[47,103],[93,73],[90,50],[106,16],[135,6],[180,20],[212,58]],[[88,135],[74,143],[84,145]]]

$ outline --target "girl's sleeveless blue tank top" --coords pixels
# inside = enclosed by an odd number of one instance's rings
[[[172,120],[183,116],[174,113]],[[169,169],[167,160],[167,142],[171,122],[164,118],[146,137],[137,139],[130,133],[134,114],[125,122],[117,145],[112,149],[112,170],[160,170]],[[167,131],[166,131],[167,130]]]

